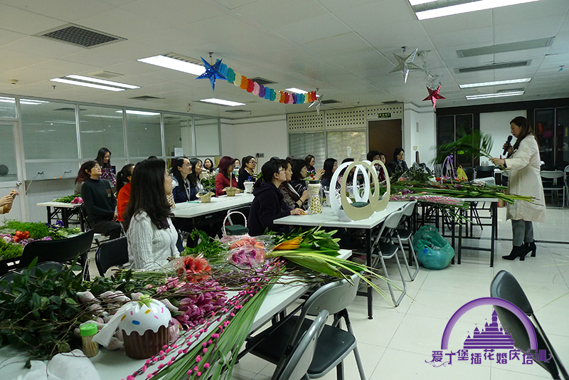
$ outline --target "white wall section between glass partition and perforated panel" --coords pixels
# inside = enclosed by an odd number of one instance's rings
[[[257,167],[262,167],[271,157],[288,156],[289,143],[287,117],[253,117],[245,120],[221,120],[221,154],[242,159],[265,154]]]

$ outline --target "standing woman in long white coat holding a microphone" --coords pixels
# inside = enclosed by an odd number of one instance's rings
[[[545,196],[539,174],[541,159],[536,137],[525,117],[518,116],[510,122],[511,134],[516,144],[509,149],[506,159],[493,158],[494,164],[503,165],[510,171],[508,191],[510,194],[532,196],[532,201],[514,201],[509,204],[506,216],[511,219],[513,248],[506,260],[524,260],[531,252],[536,256],[536,243],[533,241],[533,223],[546,219]]]

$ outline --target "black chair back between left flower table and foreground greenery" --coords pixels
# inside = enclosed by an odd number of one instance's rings
[[[32,241],[23,248],[20,267],[25,268],[34,258],[38,258],[38,263],[45,261],[71,263],[79,256],[78,264],[83,267],[83,276],[85,280],[88,280],[90,276],[89,268],[87,268],[87,253],[91,249],[94,233],[94,231],[90,230],[78,236],[73,236],[72,238],[51,241]]]

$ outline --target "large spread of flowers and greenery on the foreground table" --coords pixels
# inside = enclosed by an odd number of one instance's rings
[[[71,270],[31,275],[32,263],[11,286],[2,284],[9,288],[0,293],[0,339],[26,349],[33,359],[50,359],[78,345],[74,329],[81,323],[93,320],[104,327],[124,302],[152,297],[186,332],[125,379],[230,379],[238,351],[275,283],[304,285],[360,273],[381,292],[372,282],[381,276],[336,257],[339,239],[333,235],[313,228],[284,236],[240,236],[227,243],[207,238],[198,248],[203,255],[193,250],[160,272],[117,270],[111,278],[92,282]],[[284,273],[298,280],[282,278]]]

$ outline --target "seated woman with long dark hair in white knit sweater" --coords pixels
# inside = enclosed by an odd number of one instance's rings
[[[172,179],[162,159],[145,159],[134,167],[132,187],[124,225],[127,228],[129,261],[132,269],[156,270],[167,258],[179,256],[178,233],[166,194],[172,192]]]

